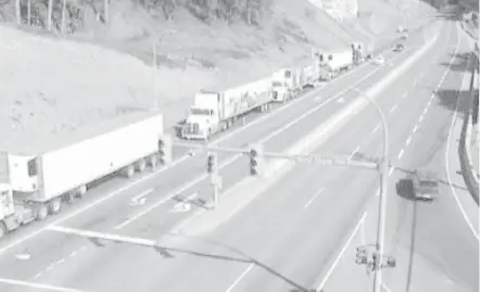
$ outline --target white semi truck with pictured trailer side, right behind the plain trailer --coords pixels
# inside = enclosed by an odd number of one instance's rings
[[[273,99],[271,78],[223,91],[202,90],[194,97],[181,137],[209,140],[212,135],[229,129],[239,117],[267,111]]]

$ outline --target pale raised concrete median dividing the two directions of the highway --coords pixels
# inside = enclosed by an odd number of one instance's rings
[[[431,47],[438,40],[438,33],[425,43],[417,52],[415,52],[409,59],[404,61],[403,64],[399,66],[397,69],[388,74],[380,82],[369,88],[365,93],[369,96],[370,99],[378,97],[381,91],[383,91],[391,82],[399,78],[405,71],[407,71],[415,62],[424,56]],[[301,139],[299,142],[293,144],[287,150],[288,154],[299,154],[301,152],[312,152],[325,142],[332,134],[337,132],[342,128],[349,120],[350,117],[356,115],[359,111],[369,105],[369,102],[365,99],[357,99],[352,104],[343,109],[338,115],[331,119],[319,125],[315,130],[310,132],[306,137]],[[217,210],[203,213],[199,218],[189,224],[188,227],[181,226],[177,228],[177,233],[193,236],[200,232],[205,232],[212,230],[223,223],[232,217],[243,206],[248,205],[249,202],[254,200],[257,195],[262,194],[271,185],[277,182],[281,177],[288,174],[288,172],[293,168],[294,163],[290,161],[277,161],[269,164],[264,168],[266,175],[263,178],[252,178],[247,177],[242,179],[239,185],[241,186],[238,190],[235,190],[235,194],[229,195],[229,201],[235,203],[225,202]],[[227,190],[228,192],[228,190]],[[243,202],[241,202],[243,201]],[[228,208],[226,206],[231,206]]]

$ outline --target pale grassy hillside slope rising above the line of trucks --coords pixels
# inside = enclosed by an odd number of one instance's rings
[[[380,46],[395,37],[400,0],[359,1],[359,17],[339,24],[307,0],[116,0],[106,20],[103,1],[68,0],[62,36],[61,1],[54,1],[52,34],[42,21],[48,1],[31,0],[30,23],[38,28],[15,27],[14,5],[0,3],[0,78],[7,81],[0,135],[11,143],[58,139],[103,120],[124,123],[155,103],[172,125],[200,88],[240,85],[308,62],[313,48],[367,39]],[[415,12],[409,26],[431,13],[421,2],[408,5]],[[24,23],[26,15],[23,7]]]

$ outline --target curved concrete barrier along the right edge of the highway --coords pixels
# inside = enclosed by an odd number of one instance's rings
[[[470,84],[470,94],[471,94],[471,103],[473,102],[475,94],[475,67],[471,74],[471,84]],[[460,158],[460,167],[462,174],[464,176],[465,183],[471,196],[473,198],[477,205],[479,204],[479,185],[480,180],[477,172],[473,168],[473,163],[470,156],[470,143],[471,143],[471,129],[472,129],[472,109],[473,106],[469,106],[469,111],[467,113],[466,118],[464,119],[464,126],[462,128],[460,142],[458,145],[458,155]]]

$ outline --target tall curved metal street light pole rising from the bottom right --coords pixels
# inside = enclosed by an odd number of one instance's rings
[[[374,263],[374,292],[380,292],[382,287],[382,255],[384,254],[384,229],[386,229],[386,210],[387,210],[387,188],[388,188],[388,172],[389,172],[389,129],[387,118],[383,115],[381,107],[367,93],[354,88],[363,98],[368,100],[377,110],[383,128],[383,154],[380,164],[380,194],[378,203],[378,223],[377,223],[377,242],[375,244],[375,252],[377,254],[377,263]]]

